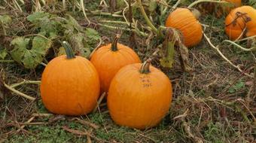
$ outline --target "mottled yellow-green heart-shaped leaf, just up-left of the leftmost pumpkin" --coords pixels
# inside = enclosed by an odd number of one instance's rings
[[[32,47],[29,47],[30,40],[32,40]],[[15,61],[24,65],[25,68],[35,68],[43,61],[51,46],[51,41],[41,36],[32,39],[18,37],[11,41],[11,45],[14,46],[14,49],[11,50],[11,56]]]

